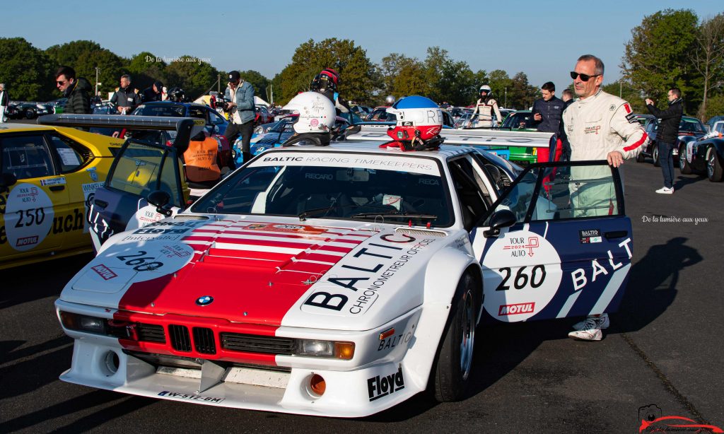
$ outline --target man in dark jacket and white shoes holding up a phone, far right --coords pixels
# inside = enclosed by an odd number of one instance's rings
[[[658,122],[660,122],[656,142],[659,147],[661,171],[664,174],[664,187],[656,190],[656,192],[662,195],[671,195],[674,192],[674,159],[672,153],[678,137],[678,125],[679,122],[681,122],[681,115],[683,114],[681,90],[678,88],[670,88],[667,98],[669,100],[669,106],[664,110],[659,110],[654,106],[654,101],[646,98],[646,107],[651,114],[657,117]],[[679,158],[682,158],[682,156],[679,156]]]

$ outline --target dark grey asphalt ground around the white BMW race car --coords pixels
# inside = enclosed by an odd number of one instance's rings
[[[599,342],[566,337],[575,320],[479,328],[463,401],[419,394],[357,420],[252,412],[129,396],[58,380],[70,367],[54,300],[83,255],[0,272],[0,433],[542,432],[633,433],[640,411],[724,427],[724,183],[624,165],[633,268]],[[654,406],[654,407],[649,407]]]

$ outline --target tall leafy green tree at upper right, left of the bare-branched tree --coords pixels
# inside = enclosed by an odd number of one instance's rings
[[[631,41],[623,55],[624,75],[633,86],[657,101],[665,101],[671,86],[686,95],[691,111],[702,99],[699,82],[691,65],[699,19],[690,9],[665,9],[644,17],[631,30]]]

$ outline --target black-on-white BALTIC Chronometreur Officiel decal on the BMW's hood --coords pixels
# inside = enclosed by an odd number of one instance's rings
[[[408,235],[385,234],[380,240],[387,244],[370,242],[363,244],[356,252],[342,258],[338,265],[350,274],[329,274],[319,283],[327,283],[313,292],[302,304],[302,310],[319,312],[318,309],[342,311],[346,309],[352,315],[363,315],[379,297],[380,290],[394,278],[421,250],[435,239],[417,240]],[[403,247],[401,244],[410,244]],[[363,260],[371,260],[361,263]],[[341,270],[340,270],[341,271]],[[351,272],[353,271],[353,272]],[[333,289],[330,289],[332,284]]]

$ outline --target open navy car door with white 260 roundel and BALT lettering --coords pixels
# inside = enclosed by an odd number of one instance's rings
[[[618,310],[633,234],[620,174],[606,161],[532,164],[471,237],[487,322]]]

